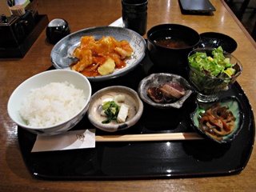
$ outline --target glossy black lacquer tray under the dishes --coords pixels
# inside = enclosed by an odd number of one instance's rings
[[[129,86],[137,91],[142,78],[157,72],[150,59],[129,74],[105,82],[91,82],[93,93],[106,86]],[[51,67],[49,70],[53,70]],[[18,142],[24,162],[35,178],[47,180],[110,180],[142,178],[192,178],[238,174],[245,169],[254,146],[254,114],[246,94],[235,82],[223,97],[234,95],[245,116],[242,130],[233,142],[220,145],[208,140],[174,142],[96,142],[94,149],[31,153],[36,135],[18,127]],[[194,94],[181,109],[160,110],[144,103],[142,118],[128,130],[115,134],[156,134],[194,131],[189,114],[195,108]],[[73,130],[94,128],[87,117]],[[97,135],[113,134],[96,130]]]

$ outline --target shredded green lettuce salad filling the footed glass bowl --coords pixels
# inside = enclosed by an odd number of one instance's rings
[[[188,61],[191,68],[190,82],[195,90],[204,95],[226,90],[234,75],[241,70],[238,63],[230,63],[230,58],[225,57],[221,46],[210,53],[196,52],[190,55]]]

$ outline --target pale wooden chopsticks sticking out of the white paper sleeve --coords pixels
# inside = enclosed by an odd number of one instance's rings
[[[96,135],[96,142],[149,142],[149,141],[178,141],[202,139],[194,132],[167,134],[125,134],[125,135]]]

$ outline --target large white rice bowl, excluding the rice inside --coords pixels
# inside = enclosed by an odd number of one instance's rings
[[[69,82],[73,84],[76,89],[83,90],[86,96],[84,106],[82,106],[82,109],[79,110],[78,113],[74,114],[73,117],[65,122],[55,124],[54,126],[27,126],[19,114],[24,98],[30,94],[31,90],[46,86],[50,82]],[[90,98],[91,86],[85,76],[71,70],[49,70],[36,74],[33,77],[28,78],[25,82],[22,82],[22,84],[19,85],[10,95],[7,110],[10,118],[17,123],[18,126],[21,126],[34,134],[60,134],[66,130],[70,130],[84,117],[90,104]]]

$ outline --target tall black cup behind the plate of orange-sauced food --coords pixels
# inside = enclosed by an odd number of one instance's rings
[[[122,21],[124,27],[146,34],[147,0],[122,0]]]

